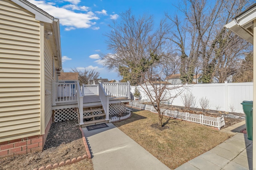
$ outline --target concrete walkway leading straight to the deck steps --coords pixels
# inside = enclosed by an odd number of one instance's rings
[[[88,131],[83,127],[94,170],[170,170],[112,123]]]

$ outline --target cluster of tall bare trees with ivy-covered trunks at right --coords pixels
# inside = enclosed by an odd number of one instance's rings
[[[192,74],[201,73],[200,81],[219,82],[236,72],[237,61],[244,57],[248,43],[228,32],[223,25],[241,12],[250,0],[182,0],[178,9],[182,15],[168,16],[174,25],[172,40],[181,54],[180,74],[190,82]]]

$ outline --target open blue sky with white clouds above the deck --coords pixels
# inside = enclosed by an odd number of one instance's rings
[[[28,0],[48,14],[60,20],[62,68],[69,72],[95,69],[100,77],[121,80],[118,73],[108,70],[100,62],[100,53],[110,53],[104,34],[110,31],[108,24],[120,19],[119,14],[129,8],[135,16],[150,14],[155,24],[164,13],[177,12],[176,0]]]

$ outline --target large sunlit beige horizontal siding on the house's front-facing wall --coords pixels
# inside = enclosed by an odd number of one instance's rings
[[[40,24],[0,1],[0,142],[40,135]]]

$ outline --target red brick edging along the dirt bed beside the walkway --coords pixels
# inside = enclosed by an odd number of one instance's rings
[[[79,162],[80,160],[83,160],[83,159],[86,159],[86,158],[91,159],[91,153],[90,153],[88,144],[87,144],[85,136],[84,136],[84,131],[82,130],[81,127],[80,127],[80,131],[82,133],[82,138],[83,138],[83,141],[84,141],[84,147],[86,149],[87,155],[84,154],[83,156],[78,156],[77,158],[68,159],[68,160],[62,161],[60,163],[48,164],[47,166],[41,166],[40,168],[34,168],[33,170],[49,170],[49,169],[54,169],[54,168],[57,168],[57,167],[60,167],[60,166],[74,164],[74,163]]]

